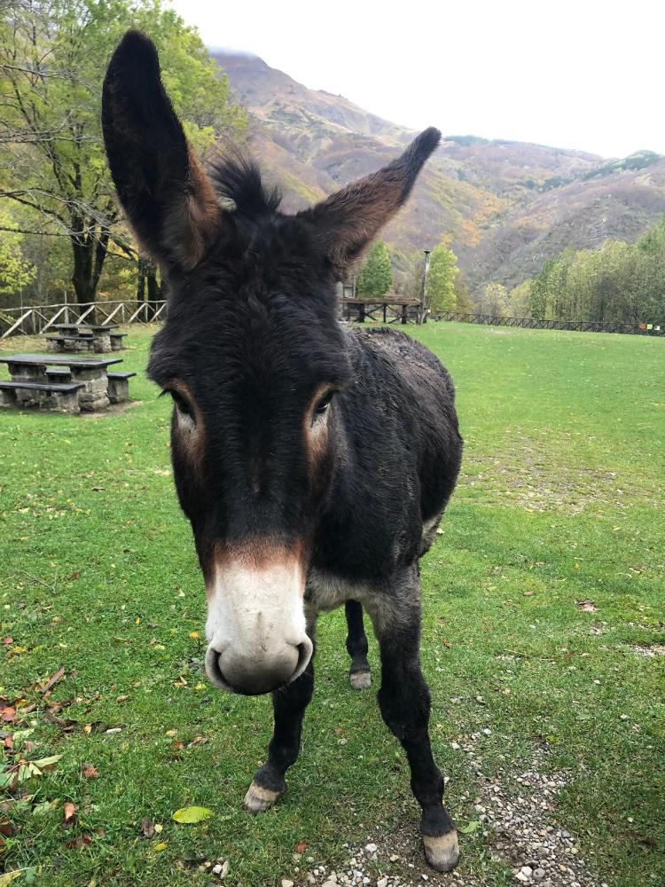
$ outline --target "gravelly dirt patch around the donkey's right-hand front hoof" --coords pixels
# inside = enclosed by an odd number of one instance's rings
[[[454,872],[444,875],[427,866],[418,819],[410,806],[390,833],[375,831],[363,844],[345,844],[348,857],[337,870],[317,864],[307,852],[296,854],[297,867],[287,880],[302,887],[422,887],[424,883],[488,887],[492,875],[500,880],[508,868],[515,883],[533,887],[606,887],[587,870],[575,836],[556,819],[557,797],[568,774],[545,773],[546,753],[538,751],[527,770],[499,773],[499,781],[489,780],[476,754],[478,739],[480,734],[472,734],[461,745],[466,765],[475,770],[478,792],[476,797],[460,798],[467,805],[473,802],[473,820],[458,822],[469,837],[459,833],[460,861]],[[505,786],[517,792],[509,794]],[[466,867],[465,844],[478,834],[487,856],[481,860],[481,870],[475,865],[472,872]]]

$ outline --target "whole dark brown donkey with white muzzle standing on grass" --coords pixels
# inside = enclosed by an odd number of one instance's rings
[[[174,402],[176,491],[207,590],[207,675],[272,694],[268,761],[245,807],[267,810],[286,790],[319,612],[345,604],[351,684],[370,685],[365,608],[379,707],[411,766],[426,859],[449,871],[458,840],[428,734],[419,557],[461,461],[453,384],[419,342],[357,332],[335,311],[336,282],[407,199],[441,134],[425,130],[384,169],[286,215],[241,156],[204,172],[137,31],[111,59],[102,124],[122,207],[168,279],[148,372]]]

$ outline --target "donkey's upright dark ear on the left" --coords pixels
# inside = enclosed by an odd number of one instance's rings
[[[102,129],[113,182],[146,250],[192,269],[215,234],[215,189],[194,157],[160,80],[154,43],[128,31],[106,71]]]

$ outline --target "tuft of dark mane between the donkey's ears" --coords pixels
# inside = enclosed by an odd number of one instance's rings
[[[282,201],[277,185],[264,184],[261,169],[238,150],[213,161],[210,177],[222,200],[232,200],[238,216],[255,221],[274,216]]]

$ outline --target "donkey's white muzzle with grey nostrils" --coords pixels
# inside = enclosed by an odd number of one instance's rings
[[[300,563],[226,562],[208,589],[206,671],[217,687],[258,695],[300,677],[312,655]]]

